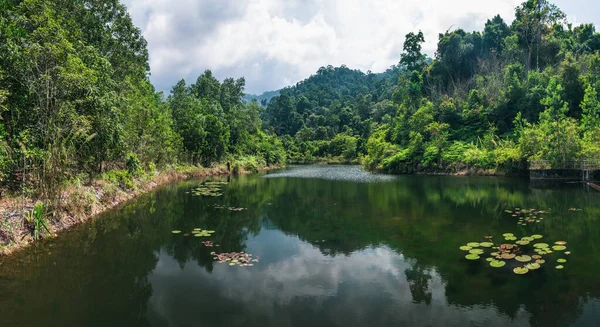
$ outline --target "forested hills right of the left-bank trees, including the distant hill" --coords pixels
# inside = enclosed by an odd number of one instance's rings
[[[440,33],[433,58],[405,36],[399,68],[323,67],[262,111],[292,161],[362,159],[410,173],[511,171],[600,158],[600,33],[546,0],[509,25]]]

